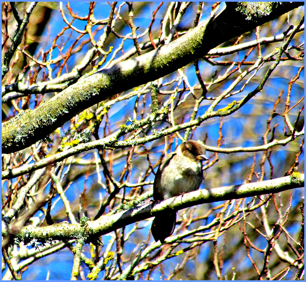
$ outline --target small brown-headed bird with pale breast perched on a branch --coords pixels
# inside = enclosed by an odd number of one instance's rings
[[[162,201],[199,189],[203,180],[202,161],[207,160],[204,145],[186,141],[166,155],[157,169],[153,183],[153,200]],[[161,243],[174,232],[176,211],[154,218],[151,233]]]

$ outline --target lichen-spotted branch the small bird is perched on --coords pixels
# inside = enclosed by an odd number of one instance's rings
[[[82,236],[92,235],[101,236],[134,222],[156,216],[162,211],[178,211],[203,203],[278,193],[301,187],[304,187],[304,174],[295,172],[290,176],[262,182],[201,189],[163,200],[156,203],[153,207],[152,204],[146,204],[116,214],[103,215],[97,220],[88,221],[85,224],[57,223],[45,227],[28,225],[21,229],[18,237],[26,241],[29,241],[29,239],[50,241],[77,239]]]

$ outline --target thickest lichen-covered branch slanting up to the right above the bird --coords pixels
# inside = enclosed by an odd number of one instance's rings
[[[229,2],[218,16],[177,40],[98,71],[69,86],[35,110],[21,112],[3,124],[2,153],[27,148],[84,109],[116,93],[167,75],[203,57],[220,43],[303,5],[303,2],[258,3]]]

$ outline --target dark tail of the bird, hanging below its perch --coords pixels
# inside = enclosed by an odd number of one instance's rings
[[[176,223],[176,212],[170,214],[161,214],[156,216],[151,226],[151,232],[154,240],[157,242],[160,240],[161,243],[165,239],[172,235]]]

